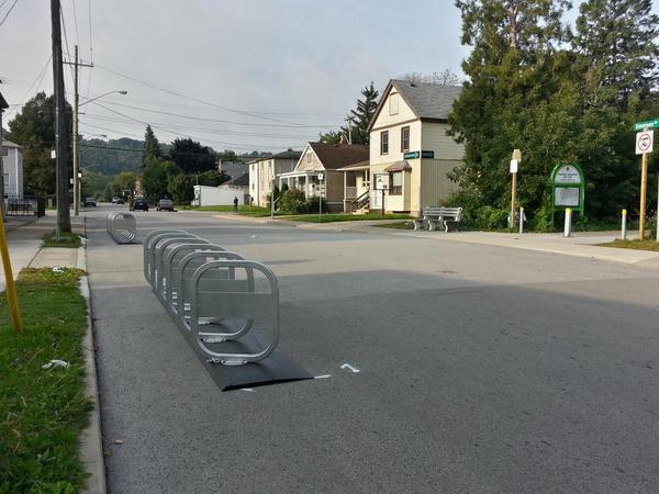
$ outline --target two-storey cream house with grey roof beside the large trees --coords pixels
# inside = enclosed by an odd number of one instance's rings
[[[446,134],[460,87],[391,80],[370,133],[369,207],[416,215],[448,198],[457,184],[447,173],[462,164],[463,146]],[[384,193],[376,190],[379,184]]]

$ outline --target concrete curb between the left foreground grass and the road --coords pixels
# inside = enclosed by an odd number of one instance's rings
[[[87,234],[87,222],[85,222],[85,234]],[[87,271],[86,247],[78,248],[77,268]],[[87,274],[80,278],[80,293],[85,297],[85,304],[87,305],[87,332],[82,339],[82,351],[85,351],[86,394],[93,405],[93,408],[89,414],[89,424],[85,430],[82,430],[80,437],[80,460],[87,467],[89,473],[87,486],[80,492],[83,494],[105,494],[105,461],[101,436],[101,414],[97,382],[93,328],[91,324],[89,277]]]

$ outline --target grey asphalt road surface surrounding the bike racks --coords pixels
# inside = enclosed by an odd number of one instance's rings
[[[659,270],[136,212],[270,266],[279,348],[331,375],[223,393],[108,211],[87,227],[111,493],[657,491]]]

